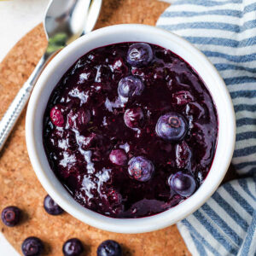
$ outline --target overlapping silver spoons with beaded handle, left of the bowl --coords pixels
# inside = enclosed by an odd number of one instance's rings
[[[90,32],[96,24],[101,8],[102,0],[50,1],[44,18],[47,49],[0,121],[0,150],[25,108],[32,89],[49,59],[73,40]]]

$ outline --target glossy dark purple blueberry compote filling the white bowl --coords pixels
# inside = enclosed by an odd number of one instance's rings
[[[195,193],[212,165],[218,117],[197,73],[145,43],[94,49],[49,98],[44,148],[73,198],[113,218],[140,218]]]

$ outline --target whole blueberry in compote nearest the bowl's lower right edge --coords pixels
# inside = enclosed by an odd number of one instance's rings
[[[169,179],[169,185],[178,195],[190,196],[195,192],[195,178],[183,172],[177,172]]]

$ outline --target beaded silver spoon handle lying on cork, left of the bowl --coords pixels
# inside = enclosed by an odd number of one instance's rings
[[[10,132],[13,130],[16,121],[19,119],[20,113],[25,108],[32,89],[48,60],[49,55],[44,54],[29,79],[27,79],[26,83],[23,84],[20,91],[15,96],[14,101],[10,104],[6,113],[4,113],[3,118],[0,121],[0,151],[9,137]]]

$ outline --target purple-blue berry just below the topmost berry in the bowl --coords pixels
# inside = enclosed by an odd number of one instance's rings
[[[141,79],[134,76],[128,76],[119,81],[119,96],[125,98],[132,96],[140,96],[143,93],[144,84]]]

